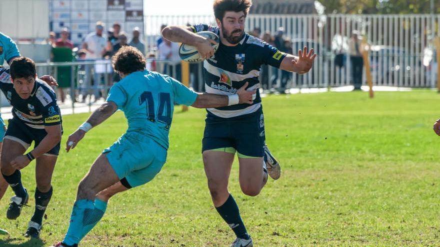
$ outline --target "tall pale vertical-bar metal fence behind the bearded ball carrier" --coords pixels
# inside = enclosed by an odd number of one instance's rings
[[[161,24],[215,24],[212,15],[145,16],[146,47],[153,50]],[[313,69],[291,75],[289,87],[337,87],[351,84],[348,40],[358,30],[370,45],[369,60],[374,85],[434,87],[436,59],[432,39],[440,33],[440,15],[249,15],[246,31],[259,27],[275,34],[284,28],[294,53],[307,45],[318,54]],[[342,63],[335,62],[336,56]],[[273,71],[275,72],[275,71]],[[272,70],[269,73],[273,78]],[[280,73],[279,71],[276,71]],[[363,73],[364,74],[364,73]],[[365,83],[365,76],[363,82]],[[280,84],[280,76],[273,83]]]

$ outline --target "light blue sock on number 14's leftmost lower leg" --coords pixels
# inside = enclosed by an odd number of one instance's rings
[[[78,200],[73,204],[69,228],[62,241],[64,244],[72,246],[79,243],[83,228],[84,212],[85,210],[93,210],[93,208],[92,200]]]

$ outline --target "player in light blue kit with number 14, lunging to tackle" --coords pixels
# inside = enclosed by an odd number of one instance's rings
[[[87,131],[117,109],[124,112],[128,129],[98,156],[79,183],[67,234],[54,247],[76,247],[102,218],[111,196],[151,181],[160,171],[166,160],[174,103],[197,108],[252,104],[255,93],[245,90],[247,84],[230,96],[196,93],[169,76],[144,70],[142,53],[131,46],[120,48],[112,65],[122,80],[69,136],[66,150],[73,149]]]

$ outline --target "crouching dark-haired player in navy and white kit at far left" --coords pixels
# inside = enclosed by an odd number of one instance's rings
[[[15,193],[6,217],[16,219],[29,195],[21,183],[20,169],[36,159],[35,211],[26,237],[38,238],[42,218],[52,195],[51,178],[62,135],[61,115],[55,92],[36,78],[35,63],[29,58],[12,60],[10,69],[0,67],[0,89],[12,105],[12,119],[4,136],[0,157],[1,174]],[[24,154],[30,144],[34,149]]]

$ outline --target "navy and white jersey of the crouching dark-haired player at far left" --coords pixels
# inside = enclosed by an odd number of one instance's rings
[[[9,69],[0,67],[0,89],[12,105],[15,119],[35,129],[61,124],[61,114],[55,92],[42,80],[37,79],[27,99],[22,99],[9,79]]]

